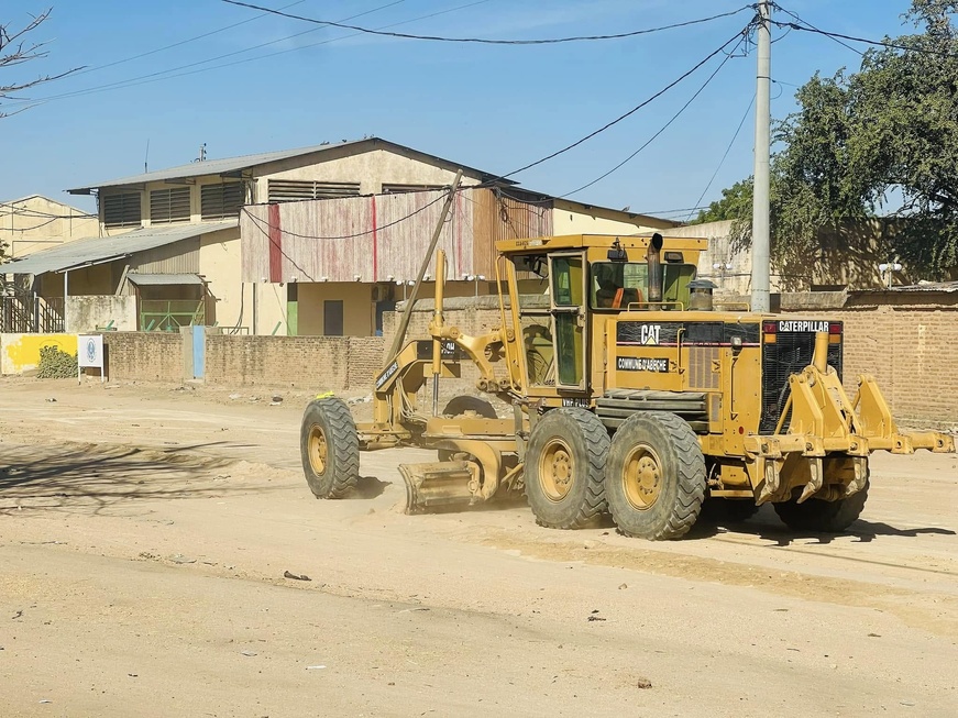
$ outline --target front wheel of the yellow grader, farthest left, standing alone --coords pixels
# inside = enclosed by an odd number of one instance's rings
[[[360,478],[360,439],[342,399],[315,399],[299,431],[306,482],[316,498],[342,498]]]

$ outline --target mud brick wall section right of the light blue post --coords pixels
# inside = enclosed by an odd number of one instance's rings
[[[346,388],[345,336],[207,336],[206,380],[335,391]]]

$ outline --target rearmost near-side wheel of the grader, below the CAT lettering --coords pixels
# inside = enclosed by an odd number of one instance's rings
[[[613,437],[605,494],[625,535],[660,541],[685,534],[698,518],[705,486],[698,438],[674,413],[635,413]]]

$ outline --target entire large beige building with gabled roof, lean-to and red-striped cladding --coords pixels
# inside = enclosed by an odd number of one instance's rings
[[[203,323],[372,335],[408,290],[396,283],[416,276],[441,188],[460,169],[463,191],[444,239],[456,261],[453,295],[488,291],[500,238],[675,225],[521,190],[377,137],[203,159],[67,190],[96,197],[95,231],[4,267],[16,277],[4,331]]]

